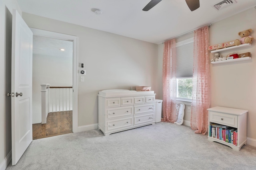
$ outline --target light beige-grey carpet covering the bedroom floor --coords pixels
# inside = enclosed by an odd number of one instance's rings
[[[235,151],[160,122],[107,137],[92,130],[34,140],[7,170],[256,170],[256,148]]]

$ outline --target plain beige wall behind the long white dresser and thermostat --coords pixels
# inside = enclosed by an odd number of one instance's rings
[[[78,62],[86,70],[78,83],[78,126],[98,123],[101,90],[151,86],[158,97],[156,44],[32,14],[22,17],[29,27],[78,36]]]

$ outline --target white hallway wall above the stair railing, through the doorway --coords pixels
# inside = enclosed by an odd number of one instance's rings
[[[72,60],[72,56],[33,54],[33,124],[42,122],[40,84],[72,86]]]

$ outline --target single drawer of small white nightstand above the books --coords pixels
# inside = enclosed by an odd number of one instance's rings
[[[210,122],[237,128],[237,115],[210,111]]]

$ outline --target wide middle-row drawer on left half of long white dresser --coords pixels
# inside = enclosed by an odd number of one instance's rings
[[[115,107],[106,109],[107,118],[115,118],[120,116],[132,116],[133,115],[133,106],[126,107]]]

